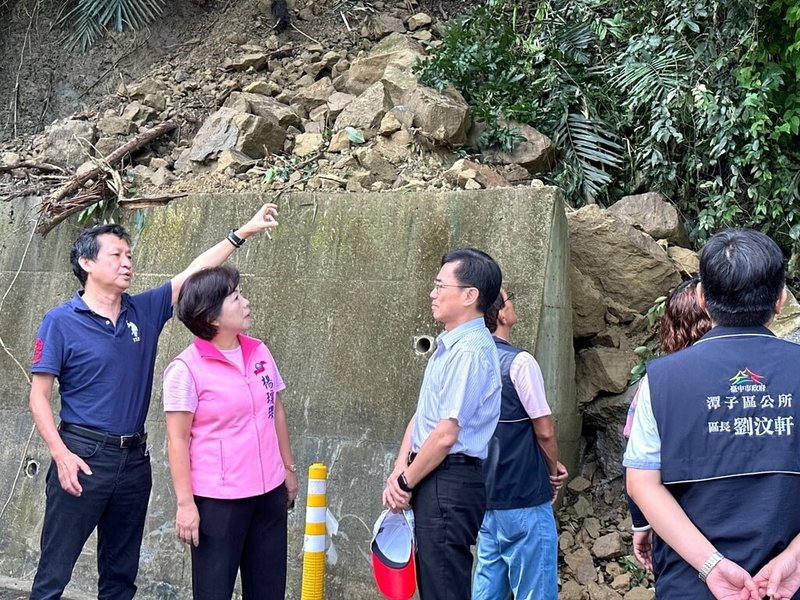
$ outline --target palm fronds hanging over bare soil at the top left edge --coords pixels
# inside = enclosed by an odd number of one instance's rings
[[[164,0],[64,0],[57,22],[66,28],[67,48],[85,52],[106,29],[141,29],[155,21],[163,8]]]

